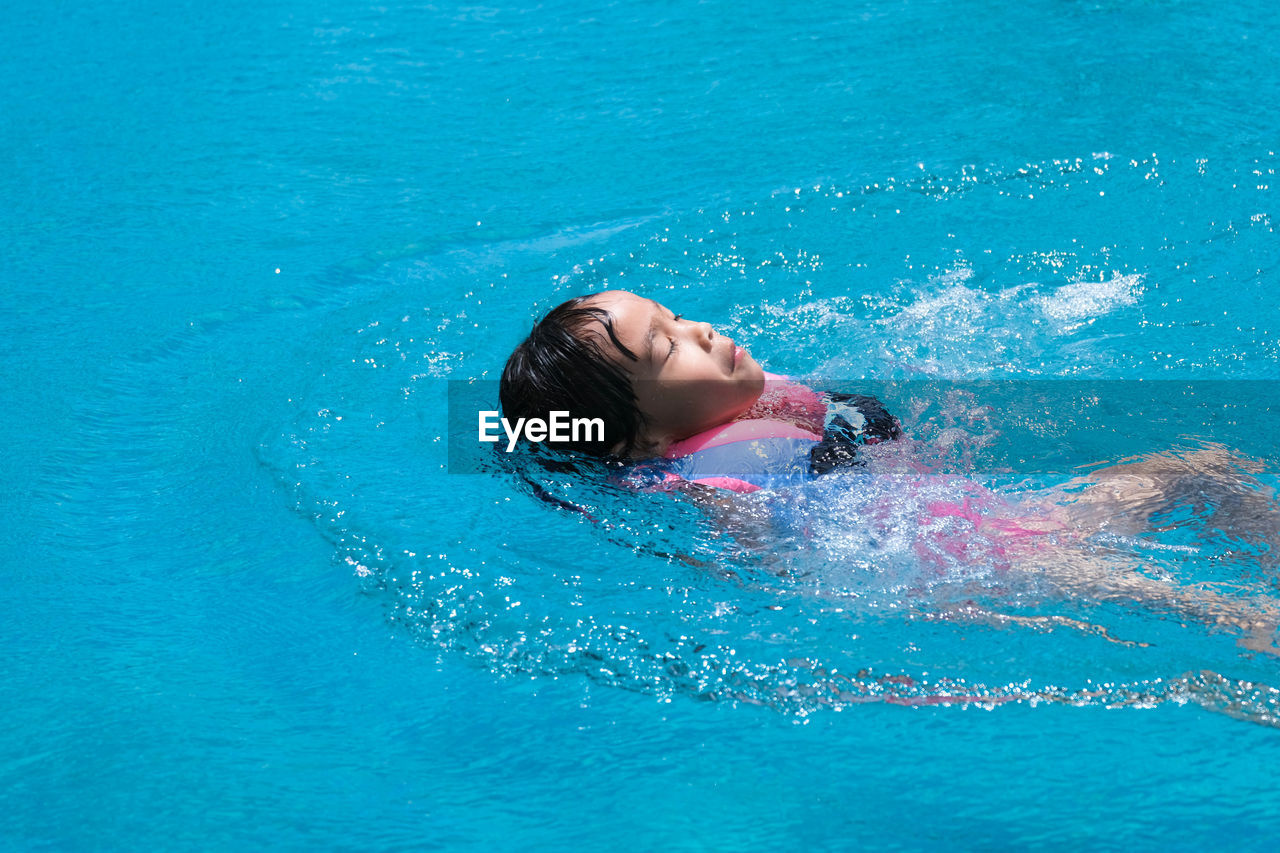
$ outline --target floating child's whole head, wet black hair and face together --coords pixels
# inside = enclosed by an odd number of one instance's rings
[[[543,318],[508,359],[499,394],[508,419],[567,411],[604,421],[603,442],[563,448],[643,457],[733,420],[763,389],[755,359],[709,324],[607,291]]]

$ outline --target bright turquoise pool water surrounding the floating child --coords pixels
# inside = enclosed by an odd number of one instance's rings
[[[4,845],[1275,838],[1280,671],[1229,630],[983,557],[937,581],[833,485],[783,576],[691,507],[568,483],[593,524],[444,441],[451,380],[630,287],[777,371],[1114,402],[886,387],[923,459],[1011,494],[1204,442],[1274,482],[1267,4],[10,17]],[[1240,384],[1181,423],[1138,379]],[[1256,543],[1121,544],[1276,594]],[[956,580],[1147,646],[932,619]],[[1015,701],[918,703],[961,692]]]

